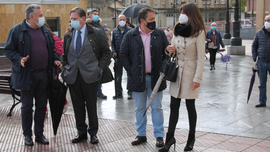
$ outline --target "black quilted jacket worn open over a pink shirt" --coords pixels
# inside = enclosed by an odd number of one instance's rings
[[[151,33],[151,77],[152,90],[160,76],[162,62],[166,58],[165,49],[169,45],[163,30],[155,28]],[[120,48],[120,60],[128,73],[127,90],[134,92],[145,91],[145,50],[141,39],[139,25],[128,31]],[[162,80],[158,92],[167,87],[166,81]]]

